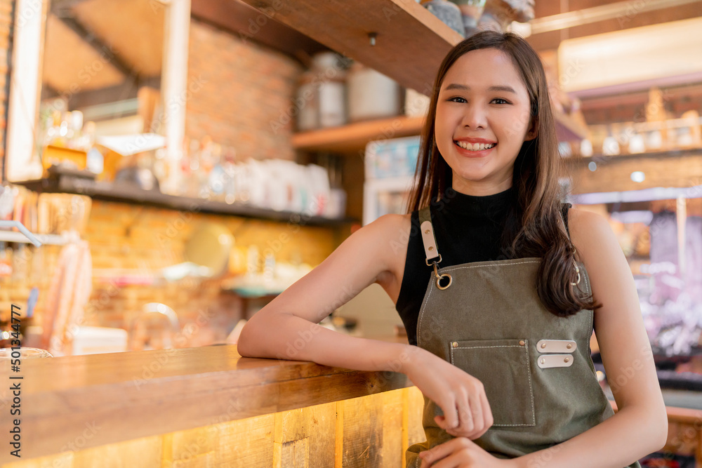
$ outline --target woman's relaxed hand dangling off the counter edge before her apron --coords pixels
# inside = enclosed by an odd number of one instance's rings
[[[437,425],[454,437],[477,439],[485,434],[493,418],[482,382],[426,349],[414,348],[403,371],[444,411],[434,418]]]

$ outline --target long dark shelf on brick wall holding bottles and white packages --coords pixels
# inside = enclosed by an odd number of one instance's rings
[[[359,222],[355,218],[324,218],[308,213],[277,211],[258,208],[244,203],[226,203],[212,199],[197,199],[187,196],[163,194],[158,190],[144,190],[131,185],[117,185],[112,182],[96,182],[86,178],[62,176],[39,180],[14,182],[34,192],[68,193],[87,195],[93,199],[138,203],[173,210],[185,210],[219,215],[241,216],[276,222],[289,222],[295,225],[341,226]]]

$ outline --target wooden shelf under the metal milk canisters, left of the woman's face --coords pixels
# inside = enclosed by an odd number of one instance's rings
[[[419,135],[423,123],[424,117],[397,116],[296,133],[293,147],[303,151],[362,152],[373,140]]]

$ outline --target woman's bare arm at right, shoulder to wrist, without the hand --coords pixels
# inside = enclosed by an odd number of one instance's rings
[[[634,279],[616,237],[602,216],[570,212],[571,239],[603,306],[595,310],[595,334],[618,413],[569,441],[513,461],[524,468],[622,468],[665,445],[668,417]]]

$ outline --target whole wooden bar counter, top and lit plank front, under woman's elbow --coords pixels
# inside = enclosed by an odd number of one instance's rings
[[[23,379],[10,380],[9,377],[15,375],[22,375]],[[275,453],[282,457],[282,466],[288,466],[283,462],[284,457],[297,458],[303,456],[301,450],[305,453],[312,450],[312,446],[307,446],[312,443],[312,434],[288,434],[290,441],[282,440],[286,437],[286,428],[296,432],[312,432],[313,428],[305,427],[304,421],[296,423],[290,420],[291,417],[299,419],[303,416],[311,417],[314,424],[324,420],[319,424],[329,426],[323,431],[319,428],[314,430],[321,434],[315,435],[318,438],[328,436],[324,441],[329,446],[325,456],[338,457],[337,451],[353,453],[357,448],[359,452],[366,450],[363,456],[370,456],[371,461],[373,457],[382,458],[383,444],[380,442],[383,432],[396,431],[396,436],[388,439],[392,439],[392,443],[386,443],[385,449],[392,450],[392,457],[398,462],[395,466],[400,466],[400,457],[407,444],[424,440],[423,433],[418,432],[421,429],[421,394],[402,373],[359,372],[302,361],[243,358],[232,345],[27,359],[22,361],[20,373],[10,375],[9,369],[3,368],[0,378],[0,411],[3,415],[0,431],[5,434],[2,436],[4,449],[0,452],[3,467],[39,467],[45,466],[46,462],[53,463],[46,466],[57,466],[56,460],[60,459],[65,459],[58,465],[62,467],[91,466],[94,460],[100,457],[104,460],[107,456],[100,446],[109,448],[135,439],[140,439],[141,448],[126,443],[122,449],[110,450],[110,457],[117,456],[114,450],[119,452],[120,458],[125,451],[131,450],[139,453],[139,458],[135,459],[139,460],[138,464],[128,462],[119,466],[161,467],[166,466],[164,463],[169,456],[171,461],[182,458],[174,455],[178,452],[175,440],[179,438],[192,443],[199,440],[195,443],[195,452],[203,458],[200,460],[203,466],[206,462],[210,463],[208,466],[239,466],[236,460],[220,459],[222,455],[215,452],[222,451],[222,444],[225,448],[227,444],[233,448],[237,443],[241,446],[244,441],[244,445],[249,444],[251,450],[247,454],[249,461],[242,460],[241,466],[259,466],[254,461],[263,461]],[[11,422],[7,416],[12,404],[8,382],[21,382],[21,460],[11,456],[11,449],[8,449]],[[407,394],[408,387],[416,392]],[[405,390],[389,392],[397,389]],[[392,398],[390,393],[393,394]],[[360,397],[372,401],[364,401]],[[343,430],[344,406],[349,408],[346,411],[349,434]],[[407,414],[410,406],[411,416]],[[298,408],[313,409],[303,415],[296,413]],[[257,417],[267,419],[263,421]],[[377,417],[372,421],[375,427],[369,430],[375,441],[361,447],[364,437],[357,437],[361,434],[355,436],[352,432],[358,432],[356,420],[367,420],[369,417]],[[290,424],[282,424],[286,418]],[[207,428],[211,430],[218,425],[245,419],[263,430],[258,442],[255,442],[257,436],[253,433],[256,430],[251,424],[239,428],[241,432],[238,437],[234,434],[239,429],[231,425],[226,431],[220,431],[217,434],[219,437],[213,437],[210,432],[209,436],[202,435]],[[408,424],[413,429],[408,429]],[[380,435],[373,436],[378,429]],[[187,434],[188,430],[195,432]],[[409,441],[408,432],[415,434],[411,439],[421,440]],[[279,441],[274,440],[276,438]],[[180,441],[181,445],[185,443],[183,440]],[[277,451],[275,443],[279,444]],[[336,450],[343,444],[346,444],[343,451]],[[319,450],[319,453],[324,451],[316,445],[314,450]],[[142,458],[147,460],[145,453],[150,452],[154,453],[152,462],[142,461]],[[256,455],[258,452],[260,459]],[[60,453],[61,456],[58,455]],[[24,461],[45,455],[53,456],[45,457],[43,461],[37,459],[36,464]],[[160,460],[154,459],[157,457]],[[206,457],[209,459],[205,460]],[[317,459],[310,457],[310,462],[314,460]],[[335,464],[331,460],[329,466]]]

